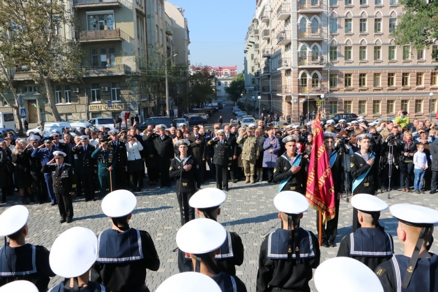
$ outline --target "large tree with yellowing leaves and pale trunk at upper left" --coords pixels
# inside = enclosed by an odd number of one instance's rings
[[[69,4],[63,0],[0,1],[1,80],[12,86],[16,68],[25,66],[36,83],[42,84],[56,121],[61,118],[55,106],[53,82],[81,77],[81,52],[74,41]]]

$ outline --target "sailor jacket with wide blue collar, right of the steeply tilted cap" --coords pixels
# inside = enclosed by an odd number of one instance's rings
[[[97,260],[91,280],[113,292],[148,291],[146,269],[157,271],[160,259],[149,233],[129,228],[107,229],[98,237]],[[93,276],[94,274],[94,276]]]

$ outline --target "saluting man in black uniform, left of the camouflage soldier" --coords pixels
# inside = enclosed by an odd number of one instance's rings
[[[215,151],[213,164],[216,166],[216,187],[228,191],[227,169],[231,165],[233,155],[230,143],[225,140],[225,131],[218,130],[217,136],[208,141],[208,145],[213,146]]]

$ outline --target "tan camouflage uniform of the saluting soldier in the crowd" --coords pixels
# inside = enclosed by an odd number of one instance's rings
[[[247,134],[240,135],[236,141],[237,144],[243,144],[242,147],[242,163],[243,172],[245,173],[245,183],[254,183],[254,175],[256,173],[256,159],[260,155],[260,147],[256,136],[248,136]]]

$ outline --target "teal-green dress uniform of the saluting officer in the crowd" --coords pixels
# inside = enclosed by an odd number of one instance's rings
[[[109,147],[108,147],[109,148]],[[105,196],[108,192],[107,189],[111,189],[110,187],[110,175],[112,175],[112,186],[114,187],[115,175],[114,170],[108,170],[108,167],[112,166],[114,169],[117,164],[117,154],[114,152],[110,152],[108,149],[104,150],[101,148],[96,148],[94,152],[91,154],[91,158],[97,159],[97,176],[99,177],[100,184],[100,196]],[[120,179],[124,179],[122,177]]]

